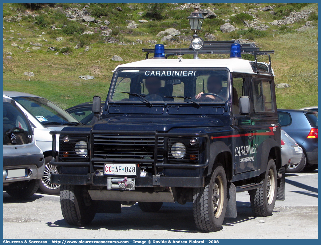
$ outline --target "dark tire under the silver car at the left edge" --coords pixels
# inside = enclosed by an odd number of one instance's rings
[[[19,181],[10,184],[6,191],[16,199],[25,199],[31,197],[38,190],[40,180]]]

